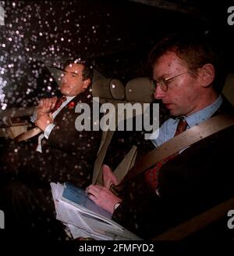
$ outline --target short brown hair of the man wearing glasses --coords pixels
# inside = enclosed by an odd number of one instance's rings
[[[215,84],[221,70],[218,67],[218,54],[213,45],[214,43],[210,42],[206,34],[169,34],[154,46],[148,61],[153,67],[166,52],[175,52],[176,56],[186,63],[192,75],[197,74],[199,67],[211,63],[215,67],[215,81],[213,82]]]

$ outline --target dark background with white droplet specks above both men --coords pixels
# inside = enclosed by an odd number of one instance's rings
[[[0,107],[33,106],[56,93],[46,65],[90,58],[108,78],[126,85],[149,75],[147,55],[162,35],[202,31],[234,72],[234,1],[5,1],[0,31]]]

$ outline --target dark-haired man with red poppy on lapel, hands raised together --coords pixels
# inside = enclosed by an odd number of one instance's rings
[[[73,182],[83,188],[90,184],[101,131],[79,132],[75,123],[80,113],[75,108],[77,103],[86,103],[92,110],[93,98],[87,89],[92,77],[93,70],[86,63],[66,63],[60,88],[63,99],[41,99],[37,106],[35,124],[41,133],[36,150],[33,143],[20,142],[5,157],[0,209],[5,211],[8,230],[22,222],[22,228],[30,232],[32,226],[36,226],[35,233],[39,229],[50,232],[55,222],[50,182]],[[91,112],[91,125],[93,121]],[[48,219],[49,225],[44,224]]]

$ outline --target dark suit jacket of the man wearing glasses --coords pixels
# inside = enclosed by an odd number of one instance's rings
[[[226,100],[218,113],[234,114]],[[234,197],[234,127],[190,146],[159,172],[160,197],[149,192],[144,175],[128,182],[113,218],[143,238],[150,238]],[[224,229],[226,228],[223,226]]]

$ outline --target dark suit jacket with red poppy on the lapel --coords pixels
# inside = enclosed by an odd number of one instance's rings
[[[90,105],[92,124],[92,97],[83,92],[68,103],[55,117],[55,128],[48,139],[42,140],[42,153],[19,150],[24,162],[23,179],[41,182],[73,182],[85,188],[91,182],[94,161],[101,142],[101,131],[76,130],[76,103]],[[92,127],[92,126],[91,126]],[[29,169],[30,167],[30,169]]]

